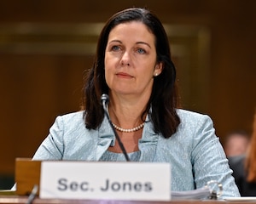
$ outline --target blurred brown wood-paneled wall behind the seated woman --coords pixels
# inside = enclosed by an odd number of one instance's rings
[[[256,106],[256,1],[0,1],[0,189],[58,115],[79,111],[102,26],[147,7],[166,27],[184,109],[212,117],[221,142],[251,132]]]

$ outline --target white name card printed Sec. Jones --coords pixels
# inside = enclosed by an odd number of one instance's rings
[[[170,201],[171,165],[42,161],[40,198]]]

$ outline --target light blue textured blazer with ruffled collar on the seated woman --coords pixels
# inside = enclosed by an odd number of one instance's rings
[[[210,180],[223,184],[223,197],[240,196],[228,160],[209,116],[177,110],[181,123],[169,139],[146,122],[139,140],[139,161],[172,165],[172,190],[195,190]],[[99,161],[116,142],[107,117],[96,130],[86,129],[83,112],[58,116],[33,160]],[[161,173],[155,176],[161,177]]]

